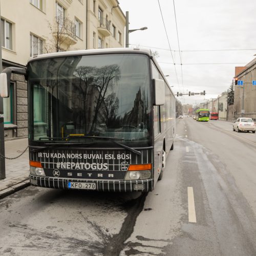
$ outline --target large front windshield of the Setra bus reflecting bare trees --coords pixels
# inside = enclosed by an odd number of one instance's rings
[[[30,141],[68,143],[101,136],[132,146],[152,144],[146,55],[45,58],[29,62],[28,72]]]

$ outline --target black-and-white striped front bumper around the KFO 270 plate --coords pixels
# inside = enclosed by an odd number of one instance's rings
[[[61,189],[73,189],[68,188],[69,182],[78,183],[96,183],[96,191],[113,191],[113,192],[131,192],[142,191],[148,192],[154,189],[154,180],[79,180],[79,179],[67,179],[67,178],[53,178],[53,177],[40,177],[30,175],[30,184],[39,187],[48,188],[61,188]],[[75,188],[77,189],[77,188]],[[81,189],[87,190],[87,189]],[[89,190],[89,189],[88,189]]]

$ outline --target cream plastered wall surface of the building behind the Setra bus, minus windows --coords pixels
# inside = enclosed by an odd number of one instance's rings
[[[39,1],[40,2],[40,1]],[[93,5],[95,2],[95,13]],[[26,67],[31,54],[31,35],[42,40],[42,53],[56,52],[57,4],[65,9],[65,17],[74,32],[75,20],[80,23],[80,35],[65,34],[63,50],[98,48],[98,40],[93,46],[93,31],[99,36],[98,6],[116,26],[116,37],[110,33],[103,38],[102,48],[124,47],[125,16],[116,0],[42,0],[38,8],[30,0],[1,0],[1,18],[12,24],[12,47],[2,46],[3,68]],[[88,6],[87,6],[88,3]],[[115,8],[114,8],[115,7]],[[21,11],[22,10],[22,11]],[[67,25],[68,27],[68,25]],[[121,33],[118,41],[118,31]],[[60,38],[60,40],[63,40]],[[13,93],[11,97],[11,122],[5,122],[5,138],[25,137],[28,134],[27,83],[24,76],[12,75]]]

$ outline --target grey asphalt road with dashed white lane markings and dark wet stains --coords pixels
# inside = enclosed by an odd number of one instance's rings
[[[256,135],[177,119],[148,194],[27,187],[0,201],[1,255],[256,255]]]

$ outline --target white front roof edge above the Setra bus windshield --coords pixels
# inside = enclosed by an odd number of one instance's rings
[[[91,55],[91,54],[110,54],[110,53],[143,53],[150,57],[153,57],[153,53],[149,49],[145,48],[106,48],[106,49],[90,49],[90,50],[76,50],[67,52],[54,52],[35,55],[28,59],[28,62],[35,59],[41,58],[52,58],[61,56],[74,56],[74,55]]]

